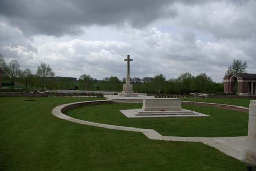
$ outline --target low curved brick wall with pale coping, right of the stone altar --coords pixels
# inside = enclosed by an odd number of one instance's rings
[[[245,108],[242,106],[235,106],[235,105],[227,105],[227,104],[214,104],[214,103],[203,103],[203,102],[194,102],[194,101],[181,101],[181,104],[214,107],[214,108],[228,109],[232,111],[246,112],[246,113],[249,112],[249,108]]]

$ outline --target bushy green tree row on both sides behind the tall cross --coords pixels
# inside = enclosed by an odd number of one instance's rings
[[[95,81],[90,75],[86,76],[87,79],[83,78],[85,77],[80,77],[79,81],[81,84],[87,85],[85,90],[96,88],[96,90],[100,91],[117,92],[122,91],[126,80],[126,78],[123,78],[120,81],[115,76],[106,77],[102,81]],[[133,90],[140,93],[189,94],[191,92],[223,92],[223,83],[215,83],[205,73],[193,76],[191,73],[186,72],[178,78],[169,80],[166,80],[163,74],[156,75],[155,77],[133,77],[130,79],[130,82],[133,84]]]

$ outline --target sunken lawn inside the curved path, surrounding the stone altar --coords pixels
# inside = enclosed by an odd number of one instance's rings
[[[210,117],[127,118],[119,110],[142,108],[142,103],[96,105],[66,111],[71,117],[112,125],[155,129],[165,136],[230,137],[246,136],[248,114],[224,109],[182,105],[182,108]]]

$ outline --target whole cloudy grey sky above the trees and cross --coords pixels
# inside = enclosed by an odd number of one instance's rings
[[[36,73],[99,80],[206,73],[223,80],[234,59],[256,73],[256,1],[1,0],[0,54]]]

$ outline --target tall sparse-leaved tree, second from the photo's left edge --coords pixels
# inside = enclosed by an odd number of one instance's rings
[[[12,60],[9,62],[9,65],[7,67],[7,76],[10,78],[11,81],[11,85],[12,85],[12,89],[14,86],[14,82],[16,80],[16,78],[18,77],[18,75],[20,74],[20,69],[19,69],[19,63],[17,60]]]

